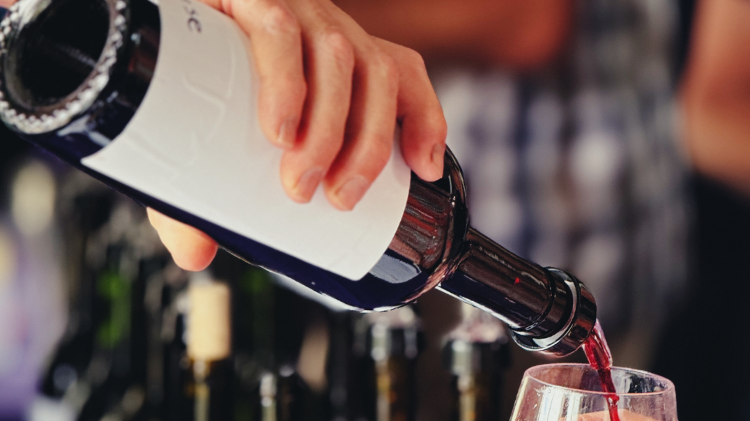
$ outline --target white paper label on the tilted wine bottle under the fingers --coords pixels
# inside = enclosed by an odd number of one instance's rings
[[[248,38],[197,0],[160,0],[154,77],[122,134],[83,159],[136,190],[300,260],[353,280],[377,263],[406,208],[410,170],[398,146],[352,212],[322,188],[311,203],[287,197],[282,150],[257,121]]]

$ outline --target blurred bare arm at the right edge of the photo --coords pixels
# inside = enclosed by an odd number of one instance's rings
[[[696,170],[750,194],[750,3],[699,5],[682,83],[685,140]]]

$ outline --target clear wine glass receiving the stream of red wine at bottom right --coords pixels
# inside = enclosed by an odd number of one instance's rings
[[[619,367],[612,380],[620,421],[677,421],[670,380]],[[610,421],[607,393],[589,365],[537,365],[523,374],[511,421]]]

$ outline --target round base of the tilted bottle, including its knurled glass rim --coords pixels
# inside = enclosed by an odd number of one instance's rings
[[[107,86],[123,0],[21,0],[0,23],[0,119],[25,134],[67,125]]]

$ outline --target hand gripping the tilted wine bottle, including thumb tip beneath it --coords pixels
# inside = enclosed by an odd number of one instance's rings
[[[446,122],[419,54],[368,35],[329,0],[202,1],[250,37],[257,118],[285,149],[281,182],[293,200],[323,184],[333,206],[353,209],[389,160],[397,121],[407,164],[427,181],[442,176]],[[148,218],[178,266],[213,259],[204,233],[153,209]]]

